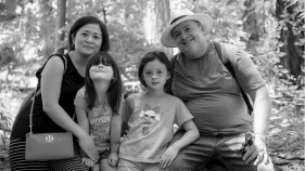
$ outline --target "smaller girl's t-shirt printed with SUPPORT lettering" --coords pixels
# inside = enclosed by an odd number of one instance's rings
[[[85,88],[81,88],[77,92],[74,104],[75,106],[87,111],[89,135],[94,140],[94,144],[99,153],[102,153],[110,148],[110,127],[112,109],[105,102],[99,106],[94,106],[91,110],[88,110],[86,105],[85,91]]]

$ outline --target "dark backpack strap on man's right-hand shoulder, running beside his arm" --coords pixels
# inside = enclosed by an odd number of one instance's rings
[[[230,57],[228,56],[228,53],[223,53],[221,44],[219,42],[214,41],[214,44],[215,44],[216,52],[217,52],[218,56],[220,57],[221,63],[229,70],[229,73],[232,75],[232,77],[238,81],[237,76],[236,76],[236,71],[232,68],[232,65],[231,65],[231,62],[229,60]],[[226,51],[224,51],[224,52],[226,52]],[[242,90],[241,87],[240,87],[240,90],[241,90],[242,97],[243,97],[243,100],[246,104],[249,115],[252,115],[253,107],[250,103],[249,96],[245,94],[245,92]]]

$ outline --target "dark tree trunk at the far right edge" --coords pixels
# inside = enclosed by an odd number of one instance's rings
[[[283,14],[284,8],[287,8],[287,1],[277,0],[276,6],[276,17],[278,21],[283,21],[284,18],[281,16]],[[287,8],[288,13],[291,15],[295,10],[294,5],[290,5]],[[298,19],[297,16],[292,18],[293,23],[296,23]],[[301,76],[301,64],[304,62],[302,60],[302,48],[296,47],[293,43],[300,40],[300,35],[293,35],[292,25],[290,23],[287,24],[287,29],[281,29],[280,32],[280,41],[284,43],[284,45],[280,49],[281,52],[284,52],[285,55],[281,58],[280,64],[287,68],[292,76],[297,78]],[[300,53],[301,52],[301,53]]]

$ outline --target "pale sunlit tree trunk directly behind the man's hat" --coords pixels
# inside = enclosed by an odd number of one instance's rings
[[[161,44],[161,36],[168,26],[169,22],[169,0],[155,0],[155,14],[156,14],[156,39],[157,44],[165,52],[168,57],[171,57],[173,50]]]

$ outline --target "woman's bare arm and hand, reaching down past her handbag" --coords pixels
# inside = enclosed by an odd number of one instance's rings
[[[41,74],[41,96],[45,113],[60,127],[78,137],[79,146],[92,159],[99,158],[93,140],[60,106],[59,98],[64,74],[64,64],[60,57],[52,57]]]

